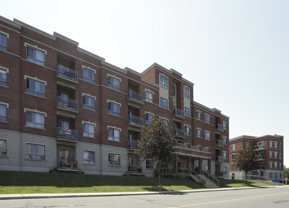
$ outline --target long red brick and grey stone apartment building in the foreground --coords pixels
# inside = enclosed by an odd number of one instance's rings
[[[178,161],[164,172],[229,177],[229,117],[193,101],[193,83],[156,63],[119,68],[0,16],[0,170],[153,176],[134,151],[141,128],[161,116]]]

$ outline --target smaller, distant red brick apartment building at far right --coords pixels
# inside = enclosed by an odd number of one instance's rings
[[[272,179],[283,179],[283,141],[280,135],[264,135],[261,137],[242,135],[229,140],[230,178],[245,179],[244,172],[235,170],[235,154],[241,146],[250,144],[254,151],[260,153],[259,166],[248,172],[249,175],[264,176]]]

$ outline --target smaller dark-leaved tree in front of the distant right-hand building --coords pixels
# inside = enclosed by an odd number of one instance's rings
[[[235,155],[235,169],[241,171],[245,171],[246,173],[246,184],[247,184],[247,176],[250,170],[258,168],[257,159],[259,158],[259,153],[255,152],[250,144],[242,146],[239,150],[237,150],[237,154]]]

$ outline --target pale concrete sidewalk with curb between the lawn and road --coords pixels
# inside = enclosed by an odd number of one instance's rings
[[[66,194],[0,194],[0,200],[7,199],[32,199],[32,198],[68,198],[68,197],[96,197],[96,196],[133,196],[133,195],[153,195],[153,194],[187,194],[194,192],[213,192],[226,190],[242,190],[264,187],[243,187],[243,188],[215,188],[185,191],[163,191],[163,192],[108,192],[108,193],[66,193]]]

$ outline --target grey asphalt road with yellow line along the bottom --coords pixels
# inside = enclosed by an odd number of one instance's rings
[[[158,194],[136,196],[105,196],[79,198],[44,198],[1,200],[2,208],[176,208],[176,207],[289,207],[289,185],[246,190]]]

